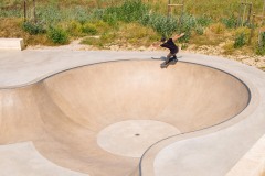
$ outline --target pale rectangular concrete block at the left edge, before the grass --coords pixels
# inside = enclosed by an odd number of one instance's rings
[[[24,50],[23,38],[0,38],[0,50]]]

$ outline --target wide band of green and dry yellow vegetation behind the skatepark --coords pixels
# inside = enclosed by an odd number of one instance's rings
[[[84,44],[107,48],[149,46],[162,35],[186,32],[180,40],[183,48],[224,43],[224,54],[246,48],[265,54],[265,34],[259,45],[257,40],[248,44],[251,30],[236,29],[239,0],[187,0],[184,14],[174,8],[170,16],[167,3],[168,0],[36,0],[34,19],[32,0],[28,0],[24,22],[21,0],[1,0],[0,37],[23,37],[29,45],[61,45],[82,37]],[[253,1],[257,14],[262,3]]]

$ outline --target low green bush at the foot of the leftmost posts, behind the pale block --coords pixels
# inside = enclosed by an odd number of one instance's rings
[[[41,23],[24,22],[22,29],[31,35],[43,34],[46,32]]]

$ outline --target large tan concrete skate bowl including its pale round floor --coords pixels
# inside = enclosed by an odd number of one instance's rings
[[[248,105],[240,79],[208,66],[119,61],[0,89],[0,144],[32,141],[49,161],[91,176],[138,175],[145,151],[229,121]]]

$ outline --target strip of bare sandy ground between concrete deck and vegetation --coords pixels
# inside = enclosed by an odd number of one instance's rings
[[[68,45],[62,46],[28,46],[28,50],[67,50],[67,51],[98,51],[97,47],[91,45],[80,44],[81,40],[75,40],[71,42]],[[153,46],[150,47],[134,47],[131,45],[110,45],[107,46],[105,50],[110,51],[162,51],[161,48],[156,48]],[[167,51],[165,51],[167,52]],[[188,52],[188,53],[199,53],[205,55],[214,55],[214,56],[223,56],[229,59],[239,61],[250,66],[257,67],[258,69],[265,70],[265,56],[257,56],[257,55],[243,55],[241,53],[233,54],[233,55],[223,55],[222,46],[200,46],[195,50],[192,46],[189,46],[186,50],[181,50],[180,52]]]

